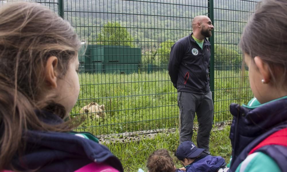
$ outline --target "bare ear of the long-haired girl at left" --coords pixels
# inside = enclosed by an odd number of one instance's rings
[[[45,66],[46,83],[52,88],[57,88],[57,73],[56,73],[57,65],[58,65],[58,58],[55,56],[51,56],[48,58]]]

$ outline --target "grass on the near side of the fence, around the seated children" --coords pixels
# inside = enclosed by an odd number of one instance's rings
[[[215,128],[216,129],[216,128]],[[231,144],[229,139],[230,127],[226,126],[223,130],[212,131],[210,137],[210,152],[213,156],[222,156],[226,163],[230,160]],[[148,156],[156,149],[167,149],[170,155],[174,158],[176,167],[180,168],[182,165],[174,157],[174,152],[179,145],[179,133],[160,133],[152,139],[144,138],[140,141],[132,142],[115,142],[105,144],[112,153],[114,153],[122,162],[124,171],[137,172],[139,168],[146,169],[146,161]],[[196,140],[196,132],[193,132],[193,140]]]

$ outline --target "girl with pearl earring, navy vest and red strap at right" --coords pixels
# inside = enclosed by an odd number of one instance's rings
[[[287,172],[286,11],[286,0],[258,2],[241,36],[243,65],[256,99],[230,104],[230,172]]]

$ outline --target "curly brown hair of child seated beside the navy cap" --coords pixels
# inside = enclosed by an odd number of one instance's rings
[[[147,162],[149,172],[173,172],[174,162],[166,149],[158,149],[154,151]]]

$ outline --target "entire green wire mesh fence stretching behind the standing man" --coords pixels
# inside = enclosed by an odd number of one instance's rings
[[[7,2],[0,0],[0,5]],[[255,11],[255,0],[36,2],[69,21],[83,43],[79,50],[81,89],[70,114],[86,120],[77,131],[108,137],[178,127],[177,90],[167,70],[169,53],[174,42],[192,32],[191,21],[197,15],[207,15],[214,23],[209,38],[214,123],[232,119],[230,103],[247,103],[253,97],[248,71],[243,70],[244,77],[240,77],[238,43]],[[91,102],[99,105],[96,110],[81,111]]]

